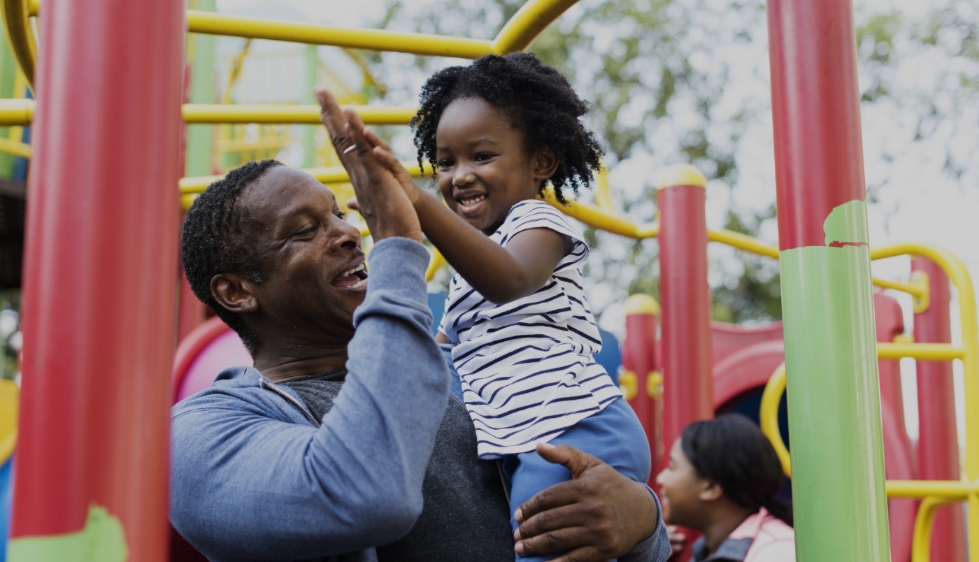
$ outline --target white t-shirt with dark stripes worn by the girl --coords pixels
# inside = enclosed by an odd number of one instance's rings
[[[484,459],[534,450],[622,396],[592,356],[601,350],[601,337],[584,298],[588,247],[582,234],[550,205],[525,201],[489,239],[505,247],[532,228],[549,228],[574,243],[543,287],[497,305],[455,275],[439,328],[454,344],[452,359]]]

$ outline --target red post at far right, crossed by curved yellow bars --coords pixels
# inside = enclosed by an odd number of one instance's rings
[[[951,295],[949,276],[928,258],[911,259],[911,271],[927,276],[927,307],[914,307],[914,341],[917,343],[952,343],[949,317]],[[922,480],[959,480],[958,433],[956,429],[956,392],[952,361],[918,361],[918,478]],[[941,507],[935,513],[932,528],[931,559],[964,562],[965,527],[962,506]]]

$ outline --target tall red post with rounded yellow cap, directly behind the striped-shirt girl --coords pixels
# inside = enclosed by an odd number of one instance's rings
[[[705,184],[699,171],[681,166],[658,193],[663,441],[668,449],[688,423],[714,417]],[[665,466],[664,456],[656,472]]]

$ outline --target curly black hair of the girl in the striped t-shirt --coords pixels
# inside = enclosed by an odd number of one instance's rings
[[[550,182],[559,202],[567,204],[564,190],[577,196],[579,187],[590,186],[592,170],[601,167],[601,146],[579,120],[588,111],[587,103],[561,72],[531,53],[487,55],[466,67],[439,70],[425,82],[419,98],[421,107],[411,119],[419,165],[428,160],[438,169],[435,133],[445,108],[455,100],[481,98],[523,133],[528,153],[543,147],[554,151],[558,168]]]

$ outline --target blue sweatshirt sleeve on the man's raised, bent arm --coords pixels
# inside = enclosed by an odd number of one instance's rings
[[[320,428],[270,414],[292,407],[272,391],[174,414],[171,519],[181,535],[213,560],[296,560],[411,529],[448,389],[429,331],[427,265],[408,239],[372,249],[349,373]]]

